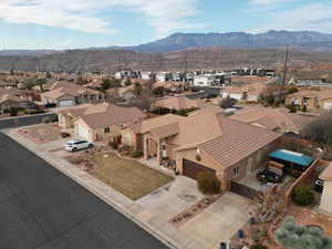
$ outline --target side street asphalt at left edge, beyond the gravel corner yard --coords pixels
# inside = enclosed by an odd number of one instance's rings
[[[52,114],[23,116],[17,118],[0,120],[0,129],[21,127],[42,123],[43,117]]]

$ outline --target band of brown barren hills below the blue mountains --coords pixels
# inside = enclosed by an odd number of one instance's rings
[[[187,58],[187,66],[186,66]],[[148,71],[273,68],[281,69],[284,50],[190,49],[168,53],[142,53],[129,50],[71,50],[42,56],[0,56],[0,70],[19,71],[105,71],[118,69]],[[290,66],[309,69],[322,63],[332,68],[332,51],[291,50]]]

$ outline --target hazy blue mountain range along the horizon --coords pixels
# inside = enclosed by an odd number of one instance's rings
[[[174,33],[167,38],[133,46],[89,48],[86,50],[131,50],[143,53],[165,53],[197,48],[224,49],[281,49],[290,44],[294,49],[332,51],[332,34],[313,31],[274,31],[251,34],[230,33]],[[43,56],[61,51],[54,50],[2,50],[0,55]]]

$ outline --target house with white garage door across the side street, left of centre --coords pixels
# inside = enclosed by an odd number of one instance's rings
[[[102,92],[84,87],[71,82],[56,82],[50,91],[41,94],[44,104],[52,103],[65,107],[83,103],[100,103],[105,100]]]

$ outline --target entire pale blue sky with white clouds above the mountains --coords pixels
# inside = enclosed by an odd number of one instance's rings
[[[332,0],[0,0],[1,49],[146,43],[174,32],[332,33]]]

